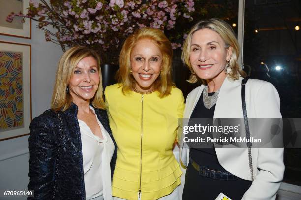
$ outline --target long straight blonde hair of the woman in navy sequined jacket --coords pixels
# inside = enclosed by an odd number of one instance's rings
[[[100,69],[100,58],[96,52],[84,46],[76,46],[67,50],[60,58],[55,86],[52,93],[51,109],[54,111],[65,111],[68,109],[72,102],[70,92],[66,92],[66,88],[69,85],[71,76],[74,74],[74,69],[85,57],[94,57],[97,62],[97,69],[99,72],[99,85],[93,99],[91,99],[92,105],[95,108],[105,108],[104,99],[102,93],[102,79]]]

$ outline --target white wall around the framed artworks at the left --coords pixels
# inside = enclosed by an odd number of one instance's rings
[[[36,24],[32,21],[31,40],[0,35],[0,41],[31,44],[31,109],[33,118],[50,107],[56,65],[63,53],[59,45],[45,41],[44,32],[37,29]],[[28,136],[0,142],[0,190],[27,189],[29,181],[28,159]],[[12,198],[1,197],[0,199],[12,200]]]

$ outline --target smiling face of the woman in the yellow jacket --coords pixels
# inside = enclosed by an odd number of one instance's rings
[[[150,91],[161,72],[162,53],[150,39],[137,41],[130,55],[131,69],[136,89]]]

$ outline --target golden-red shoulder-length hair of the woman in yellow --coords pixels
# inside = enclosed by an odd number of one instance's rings
[[[154,89],[160,92],[161,98],[167,96],[170,94],[171,87],[174,86],[171,77],[173,50],[170,41],[164,33],[159,29],[150,27],[136,30],[132,35],[127,37],[122,46],[119,56],[119,70],[116,75],[118,83],[122,84],[122,92],[125,94],[134,89],[136,81],[130,73],[130,56],[133,47],[136,45],[137,41],[141,39],[150,39],[157,45],[162,53],[161,73],[153,84]]]

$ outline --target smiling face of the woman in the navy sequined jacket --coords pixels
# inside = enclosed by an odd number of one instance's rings
[[[90,101],[98,89],[98,84],[97,61],[92,56],[83,58],[75,67],[68,84],[72,101],[75,104]]]

